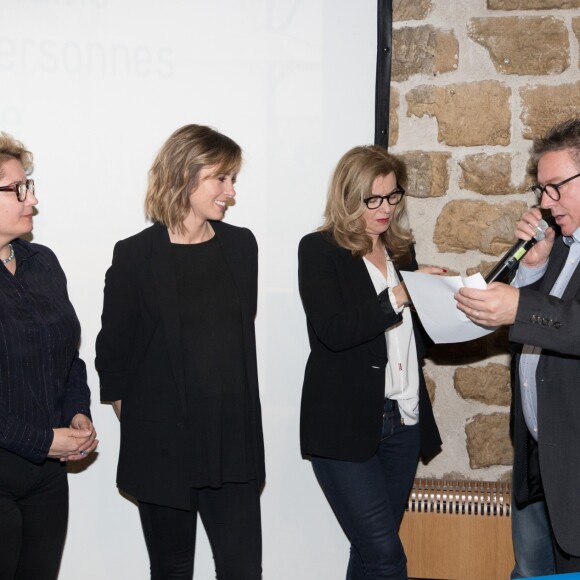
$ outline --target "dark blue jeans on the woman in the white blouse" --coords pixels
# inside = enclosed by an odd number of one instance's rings
[[[419,425],[401,425],[385,400],[376,453],[361,463],[312,457],[312,467],[350,543],[347,580],[406,580],[399,524],[419,460]]]

